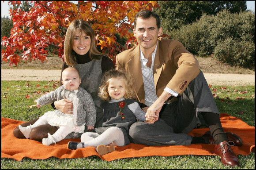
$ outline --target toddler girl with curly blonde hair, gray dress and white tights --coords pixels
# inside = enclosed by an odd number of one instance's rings
[[[146,113],[139,107],[139,102],[132,99],[132,82],[125,72],[114,69],[106,72],[99,89],[98,96],[105,101],[102,103],[102,127],[95,128],[95,132],[82,134],[82,142],[68,142],[69,149],[93,146],[97,147],[99,155],[104,155],[115,150],[113,145],[124,146],[130,143],[129,128],[136,119],[147,123],[152,121],[145,118]]]

